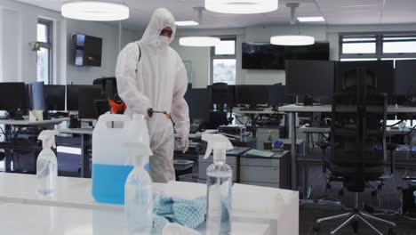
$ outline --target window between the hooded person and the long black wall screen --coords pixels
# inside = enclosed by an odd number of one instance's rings
[[[211,84],[236,85],[236,38],[222,38],[211,49]]]

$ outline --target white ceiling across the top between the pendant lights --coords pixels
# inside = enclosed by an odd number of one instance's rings
[[[15,0],[60,12],[60,5],[68,0]],[[196,20],[193,9],[204,6],[204,0],[106,0],[130,7],[126,28],[143,29],[152,12],[158,7],[170,10],[176,20]],[[277,1],[277,0],[276,0]],[[244,28],[271,24],[288,24],[290,9],[286,3],[300,3],[297,16],[324,16],[326,22],[308,24],[406,24],[416,23],[416,0],[279,0],[275,12],[233,15],[204,12],[203,24],[197,28]],[[307,24],[307,23],[302,23]]]

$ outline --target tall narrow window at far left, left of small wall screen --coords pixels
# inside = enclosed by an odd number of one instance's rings
[[[48,85],[52,83],[52,21],[38,20],[37,42],[37,81]]]

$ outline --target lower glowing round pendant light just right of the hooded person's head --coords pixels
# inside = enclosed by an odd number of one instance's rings
[[[203,25],[204,7],[194,8],[198,13],[199,25]],[[220,37],[215,36],[182,36],[180,37],[180,45],[195,46],[195,47],[209,47],[220,44]]]

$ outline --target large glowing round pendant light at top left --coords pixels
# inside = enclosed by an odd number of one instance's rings
[[[61,14],[75,20],[113,21],[129,18],[129,7],[101,1],[74,1],[62,4]]]

